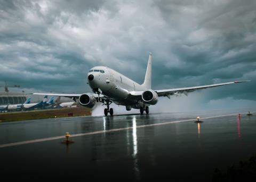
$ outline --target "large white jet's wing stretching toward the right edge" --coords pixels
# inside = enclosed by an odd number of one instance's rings
[[[171,89],[162,89],[162,90],[154,90],[157,95],[159,97],[161,96],[167,96],[170,97],[170,95],[174,95],[174,94],[185,94],[187,95],[188,92],[194,92],[195,90],[199,90],[199,89],[205,89],[205,88],[211,88],[211,87],[219,87],[222,85],[230,85],[230,84],[237,84],[240,82],[247,82],[250,80],[246,80],[246,81],[231,81],[231,82],[225,82],[225,83],[221,83],[221,84],[212,84],[212,85],[203,85],[203,86],[195,86],[195,87],[184,87],[184,88],[171,88]],[[132,91],[130,92],[130,94],[132,96],[139,96],[143,93],[143,91]]]

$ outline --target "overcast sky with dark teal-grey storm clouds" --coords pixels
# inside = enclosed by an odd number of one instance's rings
[[[10,85],[89,92],[95,65],[141,83],[149,52],[155,89],[252,80],[198,94],[255,101],[256,1],[0,0],[0,81]]]

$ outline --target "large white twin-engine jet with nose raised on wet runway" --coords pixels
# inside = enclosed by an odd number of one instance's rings
[[[108,67],[97,66],[89,70],[87,74],[88,84],[93,93],[84,94],[53,94],[53,93],[30,93],[34,95],[51,95],[63,96],[72,98],[78,101],[79,104],[85,107],[93,108],[97,102],[102,102],[107,108],[104,109],[104,114],[114,114],[113,108],[109,108],[111,103],[124,105],[127,111],[139,109],[140,113],[144,111],[149,113],[149,106],[155,105],[158,97],[168,97],[171,95],[185,94],[194,92],[198,89],[205,89],[211,87],[218,87],[223,85],[237,84],[246,81],[231,81],[220,84],[184,87],[184,88],[170,88],[170,89],[152,89],[151,88],[151,72],[152,72],[152,53],[149,53],[148,65],[143,84],[127,78],[121,73],[110,69]]]

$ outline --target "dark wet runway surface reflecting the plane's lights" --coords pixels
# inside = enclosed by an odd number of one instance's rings
[[[9,179],[211,181],[256,153],[256,117],[237,113],[117,115],[0,124]],[[66,132],[75,143],[61,144]],[[14,175],[15,174],[15,175]]]

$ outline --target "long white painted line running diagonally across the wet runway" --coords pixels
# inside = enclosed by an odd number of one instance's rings
[[[251,112],[251,113],[254,113],[254,112]],[[241,113],[241,114],[246,114],[246,113]],[[227,116],[231,116],[231,115],[237,115],[237,113],[236,114],[217,115],[217,116],[213,116],[213,117],[205,117],[205,118],[201,118],[201,120],[211,119],[211,118],[221,118],[221,117],[227,117]],[[169,125],[169,124],[172,124],[172,123],[188,122],[188,121],[195,121],[195,120],[196,119],[186,119],[186,120],[178,120],[178,121],[170,121],[170,122],[162,122],[162,123],[153,123],[153,124],[149,124],[149,125],[140,125],[140,126],[137,126],[136,128],[146,128],[146,127],[152,127],[152,126]],[[74,134],[74,135],[71,135],[71,137],[74,138],[74,137],[78,137],[78,136],[110,133],[110,132],[114,132],[114,131],[122,131],[122,130],[129,130],[129,129],[133,129],[133,127],[117,128],[117,129],[109,129],[109,130],[101,130],[101,131],[93,131],[93,132],[82,133],[82,134]],[[0,148],[16,146],[16,145],[31,144],[31,143],[38,143],[38,142],[46,142],[46,141],[56,140],[56,139],[65,139],[65,137],[64,136],[56,136],[56,137],[49,137],[49,138],[27,140],[27,141],[23,141],[23,142],[15,142],[15,143],[9,143],[9,144],[2,144],[2,145],[0,145]]]

